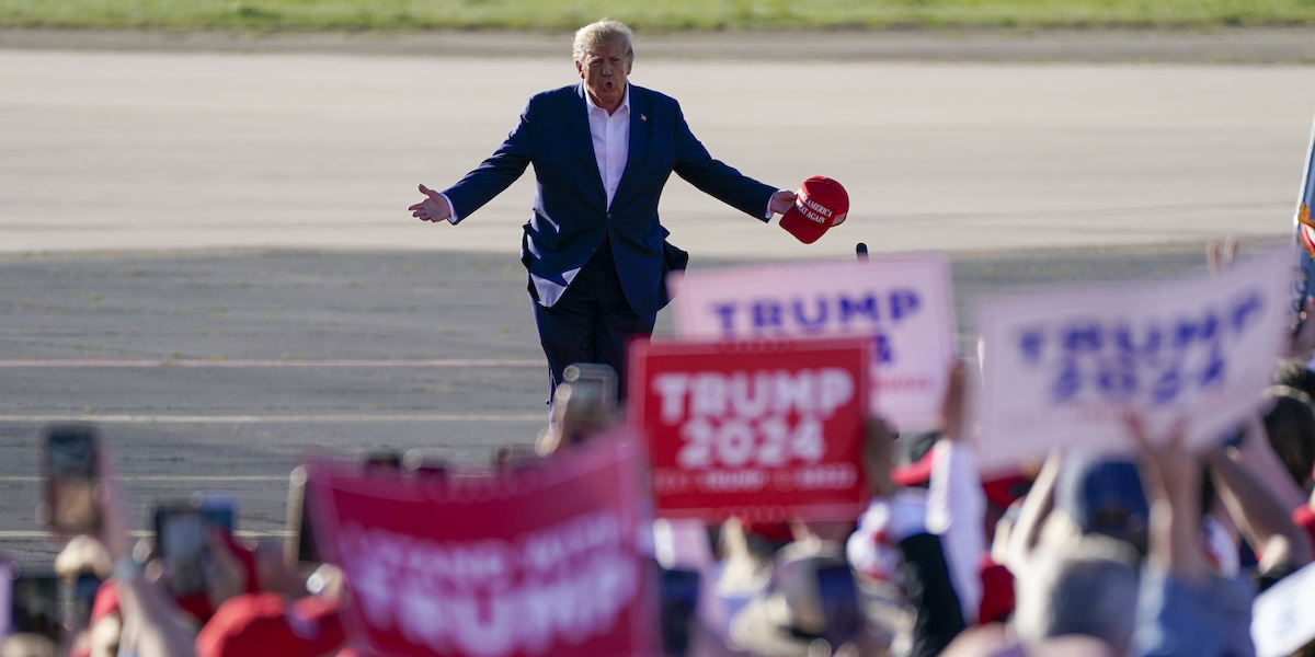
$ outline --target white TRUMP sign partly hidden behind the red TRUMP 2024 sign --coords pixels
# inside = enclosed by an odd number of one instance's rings
[[[873,407],[901,430],[939,420],[955,357],[940,255],[697,272],[669,286],[681,338],[871,335]]]

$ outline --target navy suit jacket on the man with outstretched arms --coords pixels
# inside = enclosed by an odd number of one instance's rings
[[[652,314],[667,302],[668,231],[658,221],[658,201],[671,173],[761,221],[776,189],[714,160],[675,99],[631,84],[630,151],[609,208],[584,95],[581,81],[533,96],[497,152],[443,193],[464,219],[534,164],[534,215],[525,225],[521,260],[534,275],[537,301],[556,304],[567,286],[563,275],[583,267],[606,235],[631,310]]]

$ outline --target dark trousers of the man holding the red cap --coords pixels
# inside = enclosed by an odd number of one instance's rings
[[[562,382],[562,371],[575,363],[611,365],[621,388],[617,398],[625,399],[626,344],[652,335],[658,314],[639,315],[630,309],[605,239],[552,307],[534,302],[534,321],[548,357],[548,399]]]

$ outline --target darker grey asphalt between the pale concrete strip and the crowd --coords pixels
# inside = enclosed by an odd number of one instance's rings
[[[972,352],[984,294],[1184,276],[1203,254],[955,256],[960,347]],[[696,252],[690,267],[763,261]],[[309,455],[441,445],[479,464],[533,442],[547,374],[523,276],[514,256],[463,252],[0,258],[0,551],[53,558],[34,516],[50,422],[100,427],[139,530],[155,502],[224,490],[256,537],[284,531],[288,473]],[[658,334],[671,332],[664,310]]]

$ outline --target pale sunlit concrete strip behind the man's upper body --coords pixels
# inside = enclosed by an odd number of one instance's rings
[[[709,151],[849,193],[803,247],[672,176],[722,258],[1153,244],[1291,230],[1315,66],[644,59]],[[460,226],[405,210],[488,156],[569,58],[0,49],[0,252],[514,254],[531,176]]]

